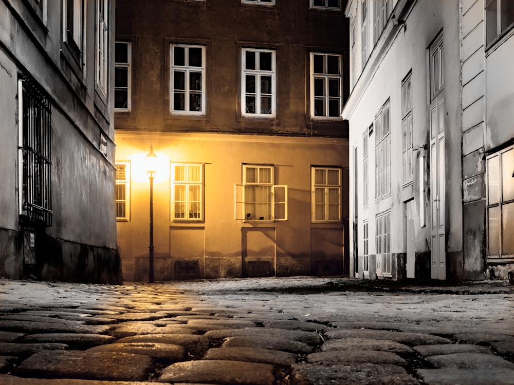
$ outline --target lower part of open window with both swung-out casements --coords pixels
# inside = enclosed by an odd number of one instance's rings
[[[238,221],[286,221],[287,220],[287,186],[272,185],[260,187],[234,185],[234,214]],[[264,198],[263,191],[269,191]],[[245,194],[247,192],[247,194]],[[258,197],[259,199],[255,199]]]

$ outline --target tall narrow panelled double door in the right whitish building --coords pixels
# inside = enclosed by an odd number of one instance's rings
[[[446,279],[445,102],[439,94],[430,111],[431,278]]]

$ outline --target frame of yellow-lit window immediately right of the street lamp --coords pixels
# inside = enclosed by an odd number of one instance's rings
[[[177,167],[184,167],[185,178],[177,179]],[[199,168],[197,175],[199,180],[191,179],[191,169]],[[204,221],[204,164],[201,163],[171,163],[171,175],[173,175],[172,179],[172,188],[171,188],[171,221],[172,222],[203,222]],[[180,186],[183,188],[185,193],[183,194],[183,199],[177,200],[177,188]],[[191,198],[191,188],[196,187],[199,189],[198,200],[192,200]],[[178,210],[179,206],[182,206],[183,209]],[[194,205],[197,210],[194,209]],[[196,216],[194,215],[196,214]],[[183,216],[180,216],[183,215]]]

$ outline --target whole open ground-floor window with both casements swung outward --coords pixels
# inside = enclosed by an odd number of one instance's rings
[[[273,180],[273,166],[243,165],[243,184],[235,185],[235,219],[287,220],[287,186]]]

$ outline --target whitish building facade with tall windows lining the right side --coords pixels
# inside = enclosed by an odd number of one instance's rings
[[[506,278],[514,224],[511,7],[354,0],[345,13],[352,273]]]

